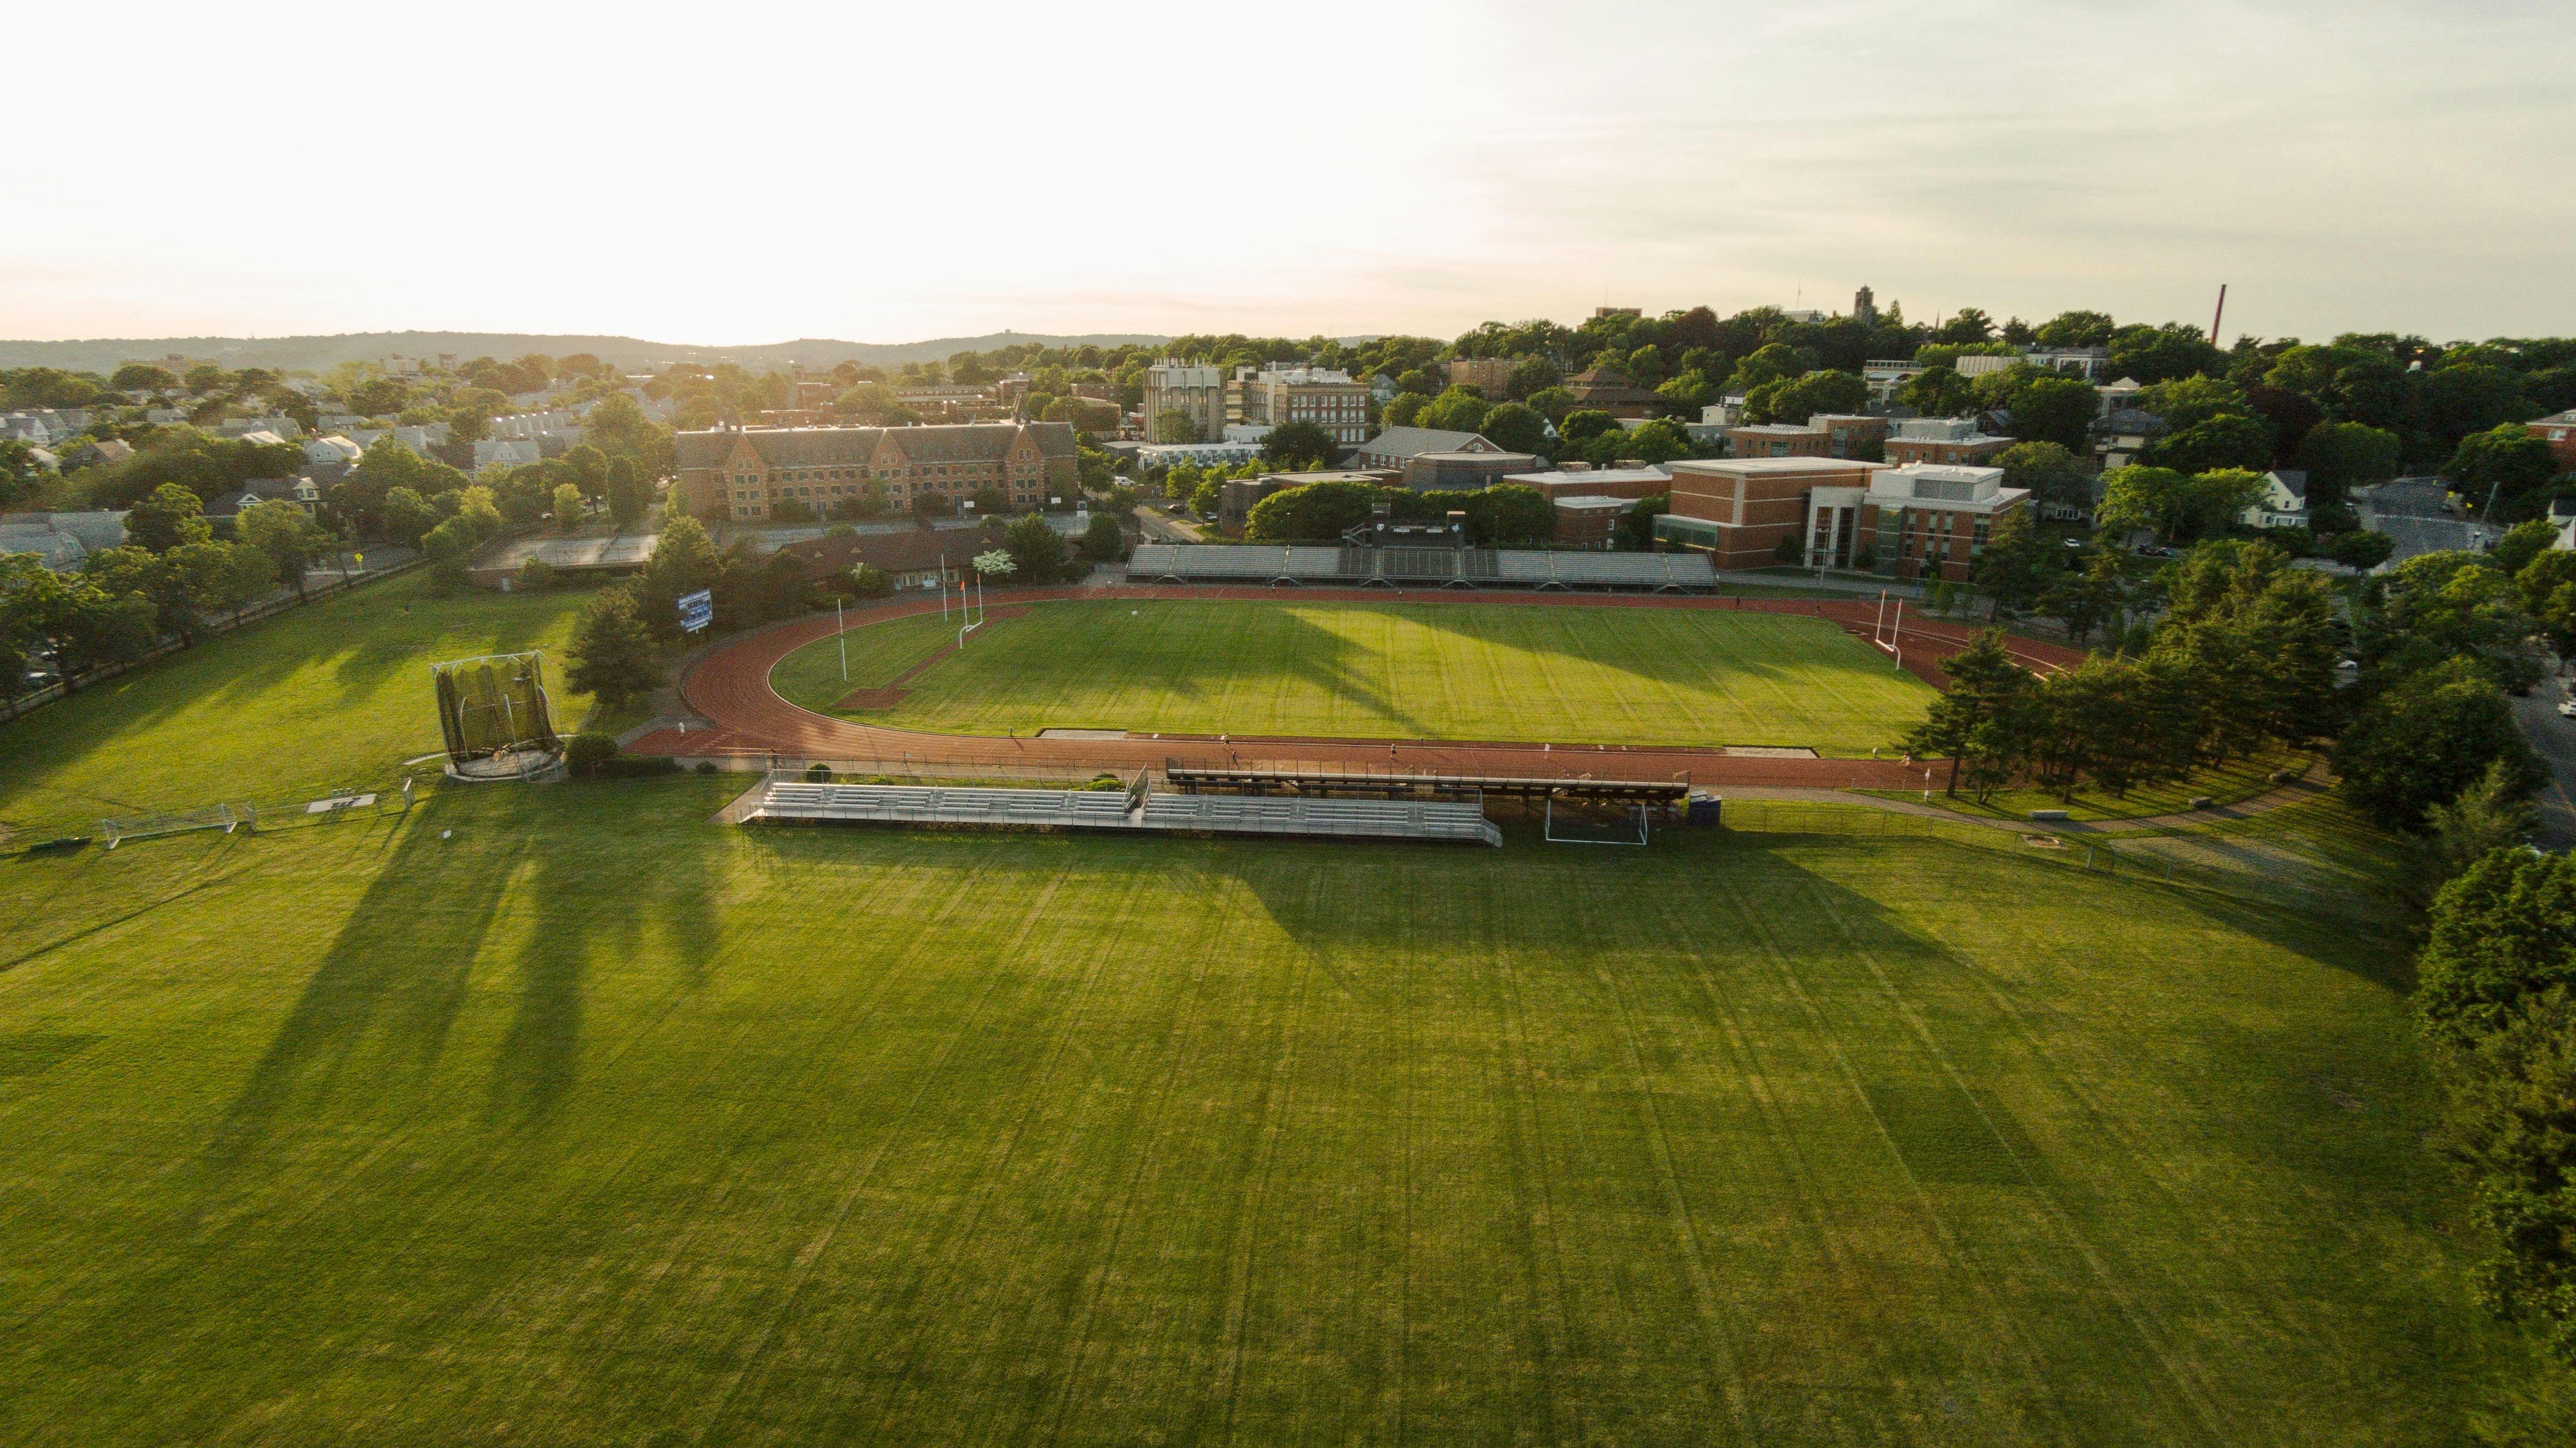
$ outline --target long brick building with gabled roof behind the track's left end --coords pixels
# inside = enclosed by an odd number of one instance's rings
[[[755,523],[775,502],[817,518],[866,497],[886,508],[922,497],[999,492],[1012,510],[1072,497],[1079,484],[1069,423],[958,423],[933,428],[716,428],[675,438],[683,508],[698,518]]]

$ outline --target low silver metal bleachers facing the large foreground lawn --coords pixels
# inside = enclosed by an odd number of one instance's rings
[[[770,781],[747,822],[922,824],[951,830],[1151,830],[1502,845],[1479,804],[1257,799],[1090,788],[956,788]]]

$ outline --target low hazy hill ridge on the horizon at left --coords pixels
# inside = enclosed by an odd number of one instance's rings
[[[590,353],[611,366],[647,368],[675,361],[739,363],[755,371],[786,363],[837,366],[845,361],[873,366],[902,366],[907,361],[933,361],[951,353],[989,350],[1012,343],[1041,343],[1048,348],[1115,348],[1126,343],[1167,343],[1149,335],[1090,335],[1051,338],[1038,332],[992,332],[984,338],[933,338],[927,343],[842,343],[832,338],[799,338],[793,343],[765,343],[752,348],[708,348],[696,343],[647,343],[641,338],[556,338],[538,332],[340,332],[332,338],[95,338],[72,343],[8,343],[0,340],[0,366],[59,366],[64,371],[116,371],[129,361],[162,361],[173,353],[193,361],[214,361],[224,368],[265,366],[270,371],[330,371],[345,361],[384,361],[389,356],[435,358],[456,353],[464,358],[518,358],[546,353],[562,358]]]

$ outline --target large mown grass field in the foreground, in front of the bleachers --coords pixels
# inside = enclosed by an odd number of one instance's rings
[[[0,1443],[2432,1445],[2514,1366],[2372,922],[737,783],[0,861]]]

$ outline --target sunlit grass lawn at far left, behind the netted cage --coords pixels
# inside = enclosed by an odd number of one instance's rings
[[[283,804],[389,783],[440,747],[430,662],[546,652],[556,729],[590,711],[564,685],[585,593],[433,598],[410,575],[209,639],[0,724],[0,827],[95,830],[106,814]]]

